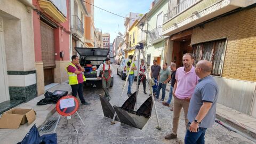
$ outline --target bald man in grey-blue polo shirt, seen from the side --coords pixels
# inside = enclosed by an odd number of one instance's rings
[[[200,79],[189,103],[185,144],[204,143],[206,129],[214,124],[219,89],[211,71],[211,62],[197,62],[195,72]]]

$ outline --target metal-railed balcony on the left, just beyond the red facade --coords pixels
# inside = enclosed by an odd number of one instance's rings
[[[76,35],[78,38],[82,38],[84,36],[83,22],[77,17],[77,15],[73,15],[72,34]]]

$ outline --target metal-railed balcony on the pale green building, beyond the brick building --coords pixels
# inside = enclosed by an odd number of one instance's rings
[[[157,26],[149,32],[149,43],[156,44],[163,41],[165,37],[162,35],[162,26]]]

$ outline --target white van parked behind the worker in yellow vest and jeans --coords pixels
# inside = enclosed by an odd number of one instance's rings
[[[117,75],[121,76],[121,78],[124,80],[127,76],[127,68],[126,68],[126,63],[129,61],[130,59],[122,59],[120,63],[118,63],[118,68],[117,68]],[[137,60],[134,61],[135,66],[137,67]],[[134,75],[135,78],[137,78],[137,70],[134,70]]]

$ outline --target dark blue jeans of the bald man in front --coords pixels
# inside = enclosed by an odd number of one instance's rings
[[[190,122],[188,123],[190,125]],[[185,144],[204,144],[204,135],[207,128],[199,127],[198,132],[190,132],[187,130],[185,136]]]

